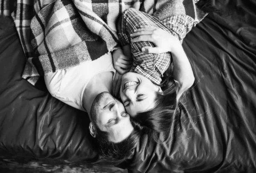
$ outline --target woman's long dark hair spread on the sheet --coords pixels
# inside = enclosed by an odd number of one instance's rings
[[[163,94],[156,94],[155,106],[153,109],[140,112],[134,117],[134,121],[140,124],[157,142],[160,134],[166,140],[170,135],[170,128],[173,116],[178,113],[177,92],[179,84],[172,77],[173,65],[171,64],[164,73],[163,82],[159,85]]]

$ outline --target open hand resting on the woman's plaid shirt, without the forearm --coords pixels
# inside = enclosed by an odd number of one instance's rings
[[[175,36],[153,26],[140,26],[140,28],[134,30],[131,37],[133,37],[131,42],[149,41],[153,43],[155,47],[146,46],[142,48],[142,51],[153,54],[172,52],[177,44],[181,45]]]

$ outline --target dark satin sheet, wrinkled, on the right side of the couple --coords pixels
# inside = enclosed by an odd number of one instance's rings
[[[195,84],[171,140],[144,136],[131,172],[256,172],[256,2],[216,5],[183,42]]]

